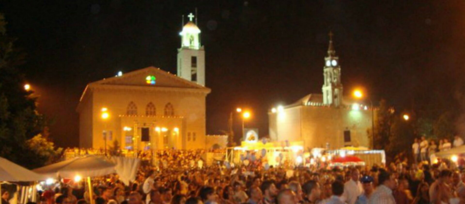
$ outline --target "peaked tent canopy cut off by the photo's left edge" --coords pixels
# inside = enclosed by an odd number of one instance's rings
[[[0,181],[26,182],[42,180],[46,180],[46,177],[0,157]]]

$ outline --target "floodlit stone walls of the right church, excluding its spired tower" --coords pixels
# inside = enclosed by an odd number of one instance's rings
[[[273,141],[303,141],[305,148],[371,146],[372,110],[365,105],[334,108],[302,102],[270,111],[269,119]]]

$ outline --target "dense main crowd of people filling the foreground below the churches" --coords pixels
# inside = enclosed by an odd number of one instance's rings
[[[50,185],[40,192],[40,203],[91,204],[92,199],[95,204],[465,204],[465,172],[447,160],[331,169],[192,164],[202,153],[157,153],[159,165],[142,165],[136,180],[127,185],[118,175],[96,178],[93,198],[83,181]],[[6,193],[2,204],[7,203]]]

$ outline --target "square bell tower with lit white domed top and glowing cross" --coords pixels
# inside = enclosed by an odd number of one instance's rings
[[[192,21],[192,13],[187,17],[189,22],[179,33],[181,47],[178,49],[178,76],[205,86],[205,50],[200,45],[200,29]]]

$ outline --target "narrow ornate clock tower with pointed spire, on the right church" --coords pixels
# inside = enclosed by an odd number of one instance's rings
[[[328,56],[325,57],[325,67],[323,68],[323,103],[334,107],[342,104],[342,83],[341,67],[339,66],[339,57],[332,45],[332,32],[329,33]]]

